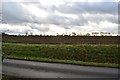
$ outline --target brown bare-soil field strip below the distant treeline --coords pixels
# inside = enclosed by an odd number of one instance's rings
[[[3,42],[32,44],[118,44],[119,36],[8,36]]]

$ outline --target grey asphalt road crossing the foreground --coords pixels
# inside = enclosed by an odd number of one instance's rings
[[[22,78],[118,78],[118,69],[5,59],[3,74]]]

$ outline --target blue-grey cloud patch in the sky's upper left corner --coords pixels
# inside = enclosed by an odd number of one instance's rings
[[[3,3],[2,10],[3,22],[8,24],[20,24],[29,22],[31,15],[28,15],[27,11],[22,8],[21,3]]]

